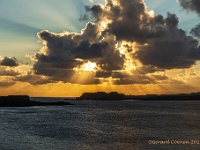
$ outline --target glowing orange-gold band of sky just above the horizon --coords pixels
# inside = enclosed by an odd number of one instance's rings
[[[143,95],[146,94],[163,94],[163,93],[180,93],[180,88],[183,92],[192,92],[194,89],[190,86],[174,85],[173,87],[166,84],[135,84],[135,85],[113,85],[110,83],[80,85],[69,83],[54,83],[45,85],[31,85],[29,83],[16,82],[15,85],[9,87],[0,87],[0,95],[24,95],[31,97],[46,96],[46,97],[77,97],[84,92],[118,92],[126,95]],[[12,91],[12,92],[11,92]],[[26,92],[24,92],[26,91]],[[41,95],[42,94],[42,95]]]

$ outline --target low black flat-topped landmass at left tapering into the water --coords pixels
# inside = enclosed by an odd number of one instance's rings
[[[71,105],[68,102],[38,102],[30,101],[28,95],[0,96],[0,107],[30,107],[30,106],[61,106]]]

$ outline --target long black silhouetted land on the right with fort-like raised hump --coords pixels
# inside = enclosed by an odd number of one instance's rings
[[[163,95],[124,95],[117,92],[83,93],[78,100],[200,100],[200,93]]]

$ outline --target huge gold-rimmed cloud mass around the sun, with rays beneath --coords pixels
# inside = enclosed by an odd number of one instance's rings
[[[190,68],[200,60],[198,41],[179,28],[178,17],[155,15],[144,0],[106,0],[85,9],[80,20],[91,15],[94,23],[88,22],[81,33],[38,33],[43,47],[34,56],[33,69],[48,79],[42,82],[98,84],[112,78],[113,84],[156,83],[168,79],[162,74],[166,69]],[[197,35],[197,29],[192,33]],[[87,62],[96,64],[95,73],[80,70]]]

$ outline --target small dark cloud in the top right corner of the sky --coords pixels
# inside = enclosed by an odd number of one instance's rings
[[[199,0],[179,0],[181,6],[187,10],[196,11],[200,14],[200,1]]]

